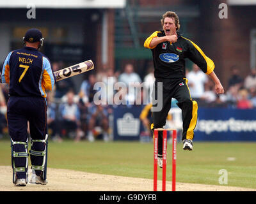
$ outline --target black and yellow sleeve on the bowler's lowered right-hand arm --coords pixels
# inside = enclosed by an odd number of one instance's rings
[[[183,37],[182,37],[183,38]],[[207,57],[204,52],[196,45],[193,43],[193,41],[187,40],[188,45],[189,45],[189,50],[188,50],[188,58],[197,64],[197,66],[204,71],[206,75],[209,75],[212,73],[213,69],[215,68],[214,62]]]

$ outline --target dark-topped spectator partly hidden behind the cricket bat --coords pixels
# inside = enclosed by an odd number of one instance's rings
[[[52,63],[52,71],[53,72],[63,69],[65,67],[66,67],[65,64],[63,64],[62,62],[53,62]],[[65,80],[59,81],[58,83],[56,83],[55,97],[61,98],[68,92],[70,87],[74,87],[74,83],[72,82],[71,78],[66,78]]]

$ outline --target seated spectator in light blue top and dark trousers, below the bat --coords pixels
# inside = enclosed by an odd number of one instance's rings
[[[81,140],[84,135],[81,131],[80,112],[77,103],[74,102],[74,92],[68,91],[67,102],[60,105],[61,133],[76,131],[75,140]]]

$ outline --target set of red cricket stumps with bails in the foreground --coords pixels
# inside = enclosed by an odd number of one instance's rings
[[[172,191],[176,186],[177,131],[176,129],[154,129],[154,191],[157,191],[158,131],[163,131],[163,179],[162,191],[166,191],[167,131],[172,131]]]

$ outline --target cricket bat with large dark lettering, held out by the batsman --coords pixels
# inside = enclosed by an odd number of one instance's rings
[[[75,64],[69,66],[64,69],[60,69],[58,71],[54,71],[54,76],[56,78],[56,82],[63,80],[65,78],[73,77],[75,75],[80,75],[86,71],[90,71],[94,69],[94,64],[92,60],[84,61],[79,64]]]

